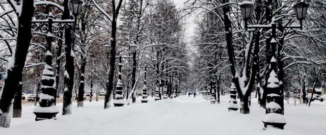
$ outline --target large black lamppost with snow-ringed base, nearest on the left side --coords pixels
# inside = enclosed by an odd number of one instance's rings
[[[34,108],[33,113],[36,115],[35,120],[45,120],[45,119],[56,119],[56,115],[59,113],[58,107],[55,105],[56,99],[56,89],[53,84],[56,83],[53,71],[52,71],[52,40],[53,33],[59,33],[61,28],[69,27],[70,24],[76,22],[76,17],[78,16],[80,9],[82,9],[83,1],[80,0],[71,0],[70,9],[74,15],[74,20],[57,20],[53,18],[51,12],[49,12],[49,6],[55,6],[53,4],[46,5],[47,18],[43,20],[32,20],[32,23],[35,24],[37,29],[41,29],[42,32],[46,34],[46,57],[45,57],[45,66],[42,73],[41,79],[41,94],[39,105]],[[57,7],[58,9],[61,9]],[[55,25],[53,28],[53,23]],[[47,25],[47,27],[46,27]]]

